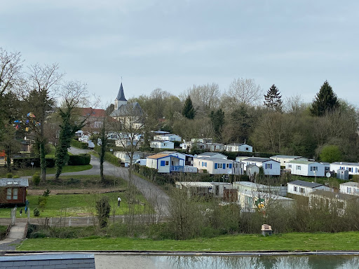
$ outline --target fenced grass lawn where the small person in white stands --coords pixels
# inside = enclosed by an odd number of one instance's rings
[[[117,207],[117,197],[121,197],[121,207]],[[40,195],[42,196],[42,195]],[[109,198],[111,208],[116,208],[116,214],[128,214],[128,198],[126,193],[93,193],[93,194],[64,194],[64,195],[49,195],[46,205],[39,206],[39,195],[27,195],[29,200],[30,216],[34,217],[34,209],[40,210],[40,217],[55,217],[55,216],[92,216],[95,214],[95,201],[102,196]],[[144,197],[137,194],[135,203],[135,212],[144,214],[144,210],[148,212],[151,207],[147,205]],[[138,202],[140,203],[137,203]],[[18,207],[17,216],[20,217],[20,209],[22,209],[22,218],[25,218],[25,207]],[[11,213],[10,208],[1,208],[0,217],[9,218]],[[112,211],[111,211],[112,212]]]

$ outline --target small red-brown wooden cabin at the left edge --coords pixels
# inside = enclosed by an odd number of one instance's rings
[[[1,205],[22,205],[26,201],[26,188],[29,186],[29,180],[18,179],[0,179],[0,204]]]

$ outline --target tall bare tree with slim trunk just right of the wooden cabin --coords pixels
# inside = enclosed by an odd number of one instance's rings
[[[34,140],[39,144],[41,179],[46,180],[45,160],[45,127],[49,112],[55,104],[55,93],[63,74],[59,73],[57,64],[39,64],[29,67],[25,87],[25,104],[27,105],[27,122],[29,130],[32,131]]]

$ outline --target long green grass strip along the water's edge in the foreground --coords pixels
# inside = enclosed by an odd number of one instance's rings
[[[159,250],[159,251],[259,251],[358,250],[359,233],[286,233],[226,235],[194,240],[149,240],[129,237],[81,239],[27,239],[20,251]]]

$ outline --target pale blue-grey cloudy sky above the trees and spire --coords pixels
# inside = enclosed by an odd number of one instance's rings
[[[327,80],[359,106],[359,1],[2,0],[0,47],[58,63],[103,104],[253,78],[311,102]]]

